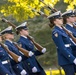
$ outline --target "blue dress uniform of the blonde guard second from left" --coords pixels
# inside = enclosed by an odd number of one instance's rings
[[[10,41],[6,40],[5,44],[8,46],[9,50],[11,50],[15,54],[21,56],[21,53],[19,52],[19,50],[16,48],[16,46],[13,43],[11,43]],[[22,65],[22,62],[16,63],[15,61],[11,60],[11,64],[12,64],[12,68],[15,71],[15,73],[17,75],[21,75],[20,72],[24,69],[24,67]]]

